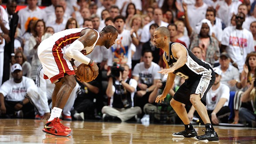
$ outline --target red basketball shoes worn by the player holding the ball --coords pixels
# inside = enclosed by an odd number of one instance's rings
[[[65,131],[62,127],[63,126],[60,123],[60,119],[56,117],[44,125],[43,132],[56,136],[70,136],[71,133]]]

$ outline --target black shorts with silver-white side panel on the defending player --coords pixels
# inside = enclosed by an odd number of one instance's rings
[[[208,75],[202,75],[193,80],[185,80],[177,92],[174,94],[173,99],[183,104],[189,104],[191,94],[200,94],[201,102],[206,105],[206,94],[212,87],[215,81],[215,73],[212,72]]]

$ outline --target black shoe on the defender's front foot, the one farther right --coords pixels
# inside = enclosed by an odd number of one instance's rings
[[[205,132],[202,136],[195,136],[194,139],[200,140],[200,141],[219,141],[219,136],[217,135],[217,132],[207,128],[206,130],[203,130]]]

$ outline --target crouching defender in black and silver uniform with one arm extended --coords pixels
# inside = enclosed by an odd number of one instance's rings
[[[193,137],[202,141],[219,141],[217,133],[210,122],[206,105],[206,93],[215,81],[215,73],[212,68],[196,58],[195,55],[180,43],[170,41],[170,33],[166,27],[156,28],[154,32],[156,48],[164,50],[163,59],[167,69],[159,71],[168,74],[167,83],[161,95],[156,97],[156,103],[164,101],[164,98],[172,88],[175,75],[185,78],[173,96],[170,104],[177,115],[183,121],[185,130],[173,133],[174,137]],[[204,121],[206,130],[202,136],[197,136],[196,130],[188,119],[186,109],[182,104],[192,104]]]

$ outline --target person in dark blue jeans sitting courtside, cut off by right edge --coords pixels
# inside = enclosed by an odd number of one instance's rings
[[[252,108],[241,107],[239,109],[239,118],[240,121],[246,122],[249,126],[256,127],[256,81],[255,77],[251,80],[251,86],[242,94],[241,102],[251,102]]]

